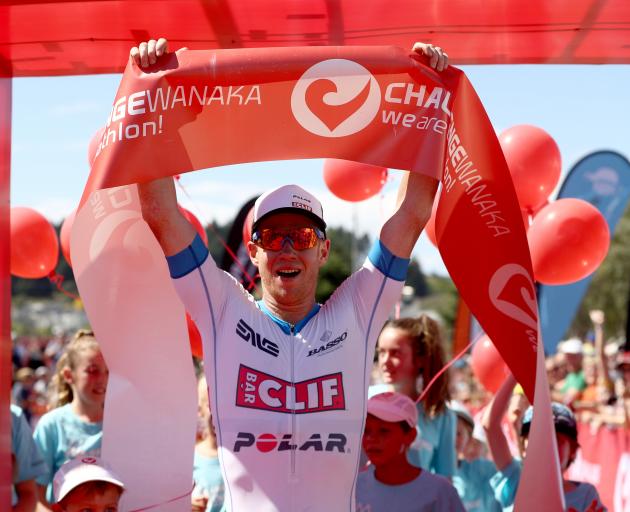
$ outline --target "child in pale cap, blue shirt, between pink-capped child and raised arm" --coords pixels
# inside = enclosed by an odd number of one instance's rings
[[[473,417],[460,402],[451,401],[448,407],[457,415],[457,469],[453,476],[453,485],[464,508],[468,512],[501,512],[501,505],[495,499],[490,486],[490,478],[497,472],[496,466],[488,459],[466,459],[466,449],[475,430]]]

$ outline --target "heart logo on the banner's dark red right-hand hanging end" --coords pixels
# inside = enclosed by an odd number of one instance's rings
[[[517,281],[522,281],[522,279],[518,279],[517,276],[524,278],[528,286],[519,287]],[[528,309],[521,308],[516,304],[516,301],[511,302],[503,298],[505,295],[513,297],[514,293],[510,292],[515,287],[517,288],[516,293],[519,299],[522,299],[522,303],[524,303]],[[538,331],[536,289],[534,288],[534,281],[524,267],[516,263],[508,263],[500,267],[494,273],[492,279],[490,279],[488,294],[494,307],[501,313],[526,325],[535,332]]]

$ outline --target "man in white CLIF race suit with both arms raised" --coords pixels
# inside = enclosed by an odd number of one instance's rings
[[[144,67],[166,40],[131,50]],[[447,55],[416,43],[441,71]],[[298,164],[299,165],[299,164]],[[437,173],[436,173],[437,174]],[[320,202],[286,185],[254,206],[255,301],[219,270],[179,212],[171,178],[138,186],[144,219],[202,333],[225,503],[234,511],[353,511],[374,345],[400,296],[437,181],[407,174],[363,266],[325,303],[315,290],[330,240]]]

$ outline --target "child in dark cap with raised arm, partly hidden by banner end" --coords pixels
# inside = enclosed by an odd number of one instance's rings
[[[483,425],[488,438],[490,453],[497,467],[497,473],[492,477],[491,485],[495,497],[503,506],[504,511],[512,510],[516,491],[521,477],[522,461],[512,457],[507,440],[501,429],[501,418],[505,414],[516,380],[510,375],[502,384],[486,408]],[[575,460],[578,444],[578,432],[575,416],[571,410],[560,403],[551,404],[560,469],[564,473]],[[533,407],[529,407],[523,415],[521,437],[527,450],[527,438],[533,417]],[[563,479],[564,499],[567,512],[605,512],[606,507],[601,503],[597,489],[589,483],[575,482]]]

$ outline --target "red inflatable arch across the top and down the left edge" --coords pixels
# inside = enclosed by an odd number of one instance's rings
[[[133,43],[191,49],[307,45],[448,48],[453,64],[627,64],[627,0],[13,1],[0,6],[0,509],[10,507],[12,77],[122,72]],[[147,11],[151,16],[147,17]]]

